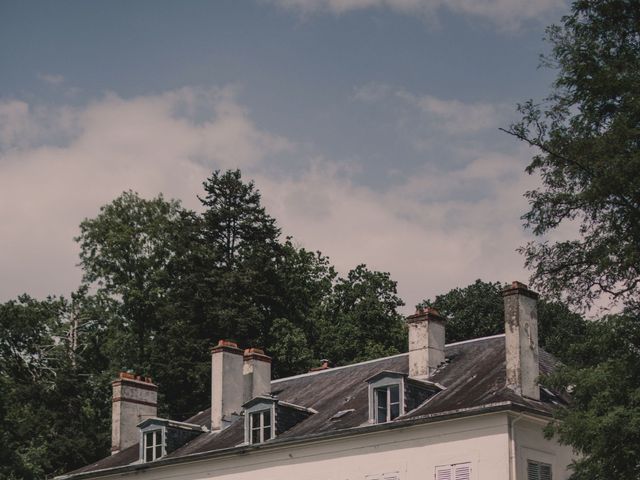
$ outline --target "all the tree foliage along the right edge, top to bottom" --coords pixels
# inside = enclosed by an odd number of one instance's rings
[[[522,252],[542,291],[579,308],[625,308],[589,324],[566,349],[566,366],[546,380],[572,398],[549,433],[582,454],[573,478],[637,478],[640,4],[574,1],[547,37],[554,89],[542,104],[522,105],[522,121],[509,130],[536,147],[528,171],[542,179],[526,194],[531,208],[524,219],[543,241]],[[575,235],[548,240],[561,225]]]

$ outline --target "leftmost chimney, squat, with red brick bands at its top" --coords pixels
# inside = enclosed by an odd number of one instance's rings
[[[158,387],[148,377],[120,372],[111,382],[111,454],[139,441],[138,423],[158,414]]]

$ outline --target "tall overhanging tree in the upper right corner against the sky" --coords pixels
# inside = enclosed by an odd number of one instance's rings
[[[640,7],[578,0],[547,29],[557,69],[551,95],[519,106],[508,132],[540,152],[527,167],[542,186],[523,217],[536,236],[575,227],[574,238],[521,249],[536,288],[588,308],[604,296],[640,297]]]

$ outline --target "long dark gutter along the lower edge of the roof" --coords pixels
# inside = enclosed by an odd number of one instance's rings
[[[275,438],[267,443],[258,445],[239,445],[235,447],[211,450],[208,452],[198,452],[179,457],[169,457],[149,463],[134,463],[119,467],[105,468],[102,470],[93,470],[90,472],[80,472],[76,474],[67,474],[54,477],[54,480],[80,480],[86,478],[106,477],[109,475],[124,475],[130,472],[142,472],[152,468],[161,468],[172,465],[179,465],[187,462],[200,462],[209,459],[225,458],[237,455],[246,455],[253,451],[277,450],[279,448],[304,445],[320,441],[327,441],[337,438],[353,437],[358,435],[366,435],[386,430],[396,430],[416,425],[441,422],[445,420],[454,420],[458,418],[469,417],[478,414],[496,413],[513,411],[519,413],[529,413],[533,415],[550,418],[549,413],[538,410],[536,408],[514,403],[511,401],[488,403],[477,407],[461,408],[458,410],[448,410],[446,412],[431,413],[426,415],[418,415],[411,418],[396,419],[392,423],[381,423],[374,425],[366,425],[359,427],[351,427],[337,431],[315,433],[292,438]],[[520,415],[522,416],[522,415]],[[515,480],[513,477],[512,480]]]

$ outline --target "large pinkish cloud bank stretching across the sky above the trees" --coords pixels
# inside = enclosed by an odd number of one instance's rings
[[[451,115],[447,105],[425,108]],[[46,130],[58,118],[53,138]],[[4,101],[1,119],[9,120],[0,121],[2,300],[75,289],[78,224],[123,190],[197,208],[214,168],[242,168],[283,232],[342,273],[359,263],[391,272],[407,312],[476,278],[526,276],[515,253],[526,240],[522,193],[533,181],[522,172],[525,151],[459,148],[459,167],[424,165],[378,189],[359,183],[357,169],[304,157],[294,140],[256,125],[233,88],[109,94],[76,108]],[[300,169],[275,173],[274,159],[292,152]]]

